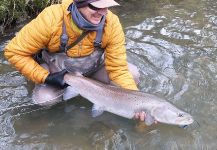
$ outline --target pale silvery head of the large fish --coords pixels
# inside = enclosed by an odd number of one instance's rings
[[[173,125],[189,125],[194,122],[193,117],[171,105],[170,103],[156,107],[152,111],[152,116],[155,120],[161,123],[173,124]]]

